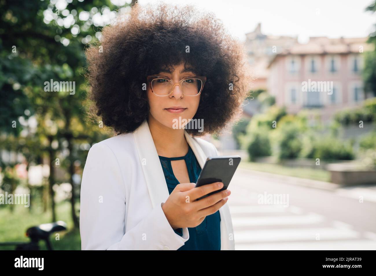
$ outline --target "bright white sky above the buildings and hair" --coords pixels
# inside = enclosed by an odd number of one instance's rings
[[[139,0],[144,3],[155,0]],[[164,0],[196,5],[214,12],[229,32],[244,41],[257,23],[266,35],[297,36],[306,43],[310,36],[329,38],[365,37],[373,32],[376,14],[365,12],[372,0]]]

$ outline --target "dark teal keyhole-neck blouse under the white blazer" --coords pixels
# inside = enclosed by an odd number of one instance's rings
[[[163,172],[165,175],[168,193],[174,190],[179,181],[174,176],[171,161],[184,159],[188,175],[191,183],[196,183],[199,178],[201,167],[194,155],[191,147],[188,145],[188,152],[181,157],[164,157],[159,155]],[[185,244],[177,250],[220,250],[221,249],[221,231],[220,231],[221,217],[219,211],[206,216],[203,222],[194,227],[188,228],[189,239]],[[182,236],[183,229],[178,228],[174,230],[176,234]]]

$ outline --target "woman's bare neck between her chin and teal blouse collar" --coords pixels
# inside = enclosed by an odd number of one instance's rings
[[[164,157],[180,157],[188,152],[188,143],[184,129],[173,129],[162,125],[150,113],[147,118],[158,155]]]

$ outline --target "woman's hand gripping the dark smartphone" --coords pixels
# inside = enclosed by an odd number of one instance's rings
[[[218,186],[219,185],[219,186]],[[206,216],[214,214],[227,202],[230,190],[214,193],[196,200],[208,193],[222,189],[222,182],[214,182],[195,188],[196,183],[180,183],[171,192],[162,210],[173,229],[193,228],[200,225]]]

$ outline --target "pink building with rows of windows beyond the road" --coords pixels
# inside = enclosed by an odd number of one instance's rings
[[[290,113],[318,111],[325,121],[338,110],[370,97],[363,90],[367,38],[310,38],[274,56],[268,65],[268,92]]]

